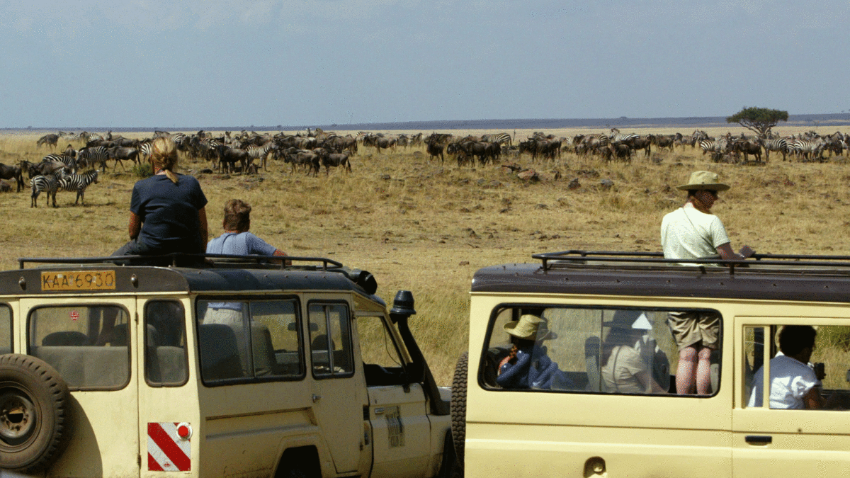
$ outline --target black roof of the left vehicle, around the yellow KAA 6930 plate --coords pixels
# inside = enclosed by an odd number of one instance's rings
[[[223,256],[204,255],[209,258]],[[0,272],[0,294],[33,295],[68,293],[43,290],[45,273],[113,271],[115,287],[109,290],[74,290],[73,293],[219,293],[284,292],[297,290],[360,293],[371,299],[375,284],[371,274],[343,267],[331,259],[287,258],[296,265],[263,265],[256,256],[229,256],[228,261],[202,267],[116,265],[115,258],[19,259],[21,269]],[[268,258],[262,258],[268,259]],[[26,268],[27,263],[39,266]],[[370,283],[371,280],[371,283]]]

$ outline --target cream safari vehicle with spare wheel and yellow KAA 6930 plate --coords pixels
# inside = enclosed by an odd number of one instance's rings
[[[450,392],[407,326],[411,293],[387,310],[371,274],[330,259],[165,259],[19,259],[0,272],[0,469],[450,473]]]

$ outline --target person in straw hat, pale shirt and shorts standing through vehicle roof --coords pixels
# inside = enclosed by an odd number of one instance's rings
[[[681,208],[666,214],[661,221],[661,247],[665,259],[744,260],[755,251],[749,246],[735,253],[723,227],[723,222],[711,213],[717,192],[728,191],[717,173],[694,171],[688,184],[679,185],[688,191]],[[683,265],[688,265],[683,263]],[[714,314],[673,312],[667,323],[679,347],[676,390],[680,394],[706,395],[711,387],[711,350],[717,350],[720,318]]]

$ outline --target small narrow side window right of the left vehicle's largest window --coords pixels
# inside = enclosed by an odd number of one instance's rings
[[[310,354],[316,377],[348,377],[351,363],[351,328],[348,304],[311,303]]]

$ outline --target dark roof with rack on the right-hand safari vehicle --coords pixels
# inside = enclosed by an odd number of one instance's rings
[[[660,253],[564,251],[533,257],[540,262],[478,270],[472,292],[850,301],[847,256],[761,255],[744,266],[718,259],[684,266]]]

